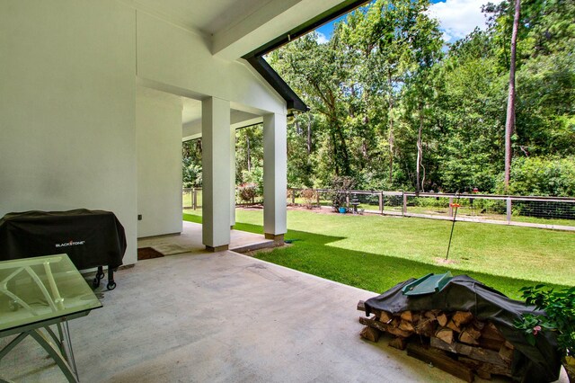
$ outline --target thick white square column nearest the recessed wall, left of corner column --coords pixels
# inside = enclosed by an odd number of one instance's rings
[[[230,244],[230,102],[210,97],[201,112],[202,243],[222,251]]]

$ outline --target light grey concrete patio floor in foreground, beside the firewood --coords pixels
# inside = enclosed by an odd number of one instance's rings
[[[84,382],[461,381],[385,339],[359,338],[356,305],[375,293],[243,254],[150,259],[116,281],[104,307],[70,322]],[[30,338],[0,362],[0,376],[65,381]]]

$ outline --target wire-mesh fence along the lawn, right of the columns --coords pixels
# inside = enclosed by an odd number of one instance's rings
[[[575,230],[575,199],[561,197],[447,194],[409,191],[288,189],[288,205],[332,209],[335,194],[359,213],[502,223]],[[459,205],[455,214],[454,203]]]

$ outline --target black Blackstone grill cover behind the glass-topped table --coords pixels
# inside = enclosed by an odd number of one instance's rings
[[[126,235],[110,211],[25,211],[0,219],[0,261],[68,254],[78,270],[117,268],[126,252]]]

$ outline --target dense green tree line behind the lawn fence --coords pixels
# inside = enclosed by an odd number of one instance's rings
[[[375,1],[349,13],[329,42],[311,33],[270,54],[311,108],[289,123],[289,185],[328,187],[345,175],[361,189],[498,190],[513,4],[484,6],[488,30],[446,52],[428,6]],[[514,157],[570,160],[575,2],[524,0],[521,14]]]

